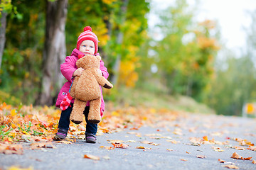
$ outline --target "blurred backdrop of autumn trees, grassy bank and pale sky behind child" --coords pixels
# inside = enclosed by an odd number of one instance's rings
[[[85,26],[100,40],[114,106],[242,115],[256,101],[256,1],[0,3],[0,102],[54,106],[60,64]]]

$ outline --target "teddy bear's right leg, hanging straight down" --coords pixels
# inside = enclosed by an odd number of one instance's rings
[[[100,98],[97,98],[93,101],[90,101],[90,110],[88,113],[88,120],[90,123],[100,123],[101,116],[100,116]]]

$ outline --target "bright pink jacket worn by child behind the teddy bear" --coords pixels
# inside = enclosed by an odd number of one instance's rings
[[[63,101],[63,98],[65,97],[65,94],[68,93],[71,83],[74,79],[73,76],[73,72],[75,72],[76,69],[78,69],[78,67],[76,66],[76,61],[78,60],[78,55],[83,55],[82,52],[80,52],[78,49],[74,49],[72,54],[70,56],[65,57],[65,62],[63,64],[60,64],[60,71],[63,74],[63,76],[65,77],[65,79],[67,79],[68,81],[65,82],[65,84],[63,85],[63,87],[60,89],[60,93],[58,94],[58,98],[56,101],[55,106],[56,107],[60,107],[60,103],[61,101]],[[99,55],[99,53],[97,53],[96,55]],[[107,79],[107,77],[109,77],[109,73],[107,72],[107,68],[104,66],[104,62],[101,60],[100,61],[100,70],[102,71],[103,77],[105,77]],[[100,86],[100,89],[102,91],[102,87]],[[71,103],[74,103],[74,99],[71,101]],[[87,103],[87,106],[90,106],[90,103]],[[103,96],[101,98],[101,112],[105,111],[105,102],[103,100]],[[101,113],[102,114],[102,113]]]

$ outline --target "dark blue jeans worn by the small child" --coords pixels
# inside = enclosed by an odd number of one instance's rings
[[[70,103],[71,106],[68,107],[65,111],[61,112],[60,115],[60,120],[59,120],[59,124],[58,124],[58,129],[64,129],[68,132],[69,129],[69,125],[70,125],[70,114],[72,112],[73,109],[73,103]],[[85,111],[84,111],[84,115],[85,115],[85,120],[86,120],[86,130],[85,130],[85,134],[88,133],[92,133],[93,135],[96,135],[97,133],[97,124],[94,123],[90,123],[88,121],[88,113],[89,113],[89,106],[85,107]]]

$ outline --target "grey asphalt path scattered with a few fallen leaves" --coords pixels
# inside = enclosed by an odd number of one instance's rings
[[[191,142],[191,137],[203,140],[204,136],[218,141],[218,144],[194,145]],[[96,144],[77,140],[71,145],[54,143],[54,149],[31,150],[29,143],[22,142],[23,154],[0,154],[0,169],[9,169],[10,166],[42,170],[227,169],[223,166],[228,164],[220,163],[218,159],[232,162],[239,169],[256,169],[256,164],[252,164],[252,160],[256,160],[256,152],[247,149],[248,146],[239,145],[238,138],[256,145],[255,118],[194,114],[171,122],[163,120],[155,125],[145,125],[139,130],[98,135]],[[105,149],[113,147],[109,140],[122,140],[129,147]],[[235,146],[245,150],[233,148]],[[252,159],[230,158],[234,152]],[[100,159],[85,159],[84,155],[88,154]]]

